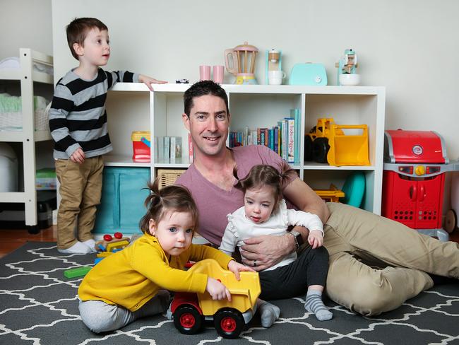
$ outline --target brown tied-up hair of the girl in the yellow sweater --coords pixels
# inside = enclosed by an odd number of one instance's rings
[[[189,189],[183,186],[167,186],[159,189],[160,178],[157,177],[152,184],[148,182],[150,195],[145,199],[147,213],[141,218],[139,227],[143,233],[150,234],[149,223],[153,219],[160,223],[167,211],[189,212],[193,219],[193,233],[198,228],[198,207],[196,206]]]

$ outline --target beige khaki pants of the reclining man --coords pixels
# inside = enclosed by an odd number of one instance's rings
[[[326,289],[336,303],[363,315],[378,315],[431,288],[434,282],[427,273],[459,279],[458,243],[440,242],[352,206],[327,206],[331,215],[324,228],[323,245],[330,253]]]

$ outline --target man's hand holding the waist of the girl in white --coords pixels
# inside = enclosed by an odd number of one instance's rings
[[[256,236],[244,240],[244,243],[245,245],[241,247],[241,255],[245,258],[242,259],[242,263],[253,267],[256,271],[273,267],[285,255],[296,249],[293,236],[288,234]]]

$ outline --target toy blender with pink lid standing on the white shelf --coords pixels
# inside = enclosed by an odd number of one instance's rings
[[[236,76],[235,84],[257,84],[254,74],[257,53],[258,48],[247,42],[225,50],[226,69]]]

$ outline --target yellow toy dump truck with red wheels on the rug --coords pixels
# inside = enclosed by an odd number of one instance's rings
[[[204,320],[213,320],[222,337],[239,337],[256,312],[256,299],[261,293],[258,273],[240,272],[241,280],[237,281],[231,271],[222,269],[214,259],[196,262],[190,270],[221,281],[229,289],[232,300],[213,300],[207,291],[175,293],[171,305],[175,327],[183,334],[196,334]]]

